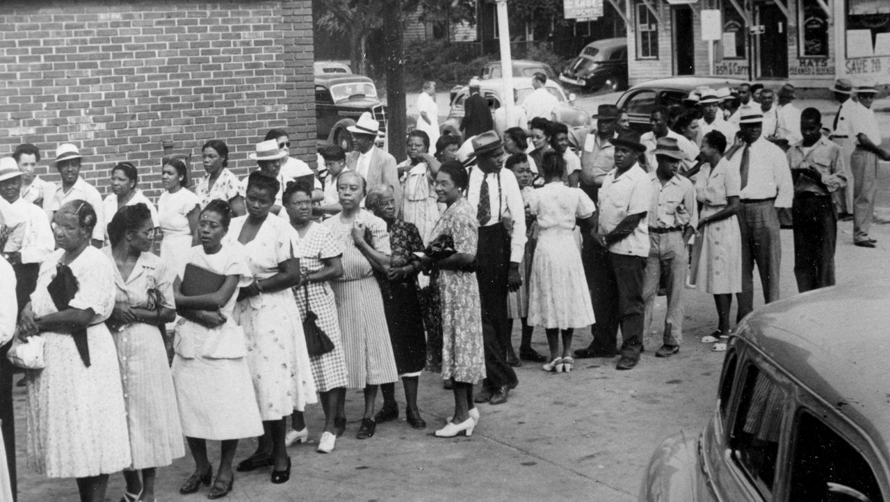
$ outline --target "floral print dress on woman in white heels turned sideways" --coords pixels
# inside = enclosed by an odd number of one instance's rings
[[[450,236],[457,253],[476,254],[479,239],[476,211],[465,198],[459,198],[442,214],[433,229],[433,239]],[[427,369],[441,372],[442,378],[479,384],[485,378],[482,348],[479,281],[472,271],[434,270],[431,279],[440,303],[441,330],[431,331],[426,346]],[[441,334],[441,338],[437,337]]]

